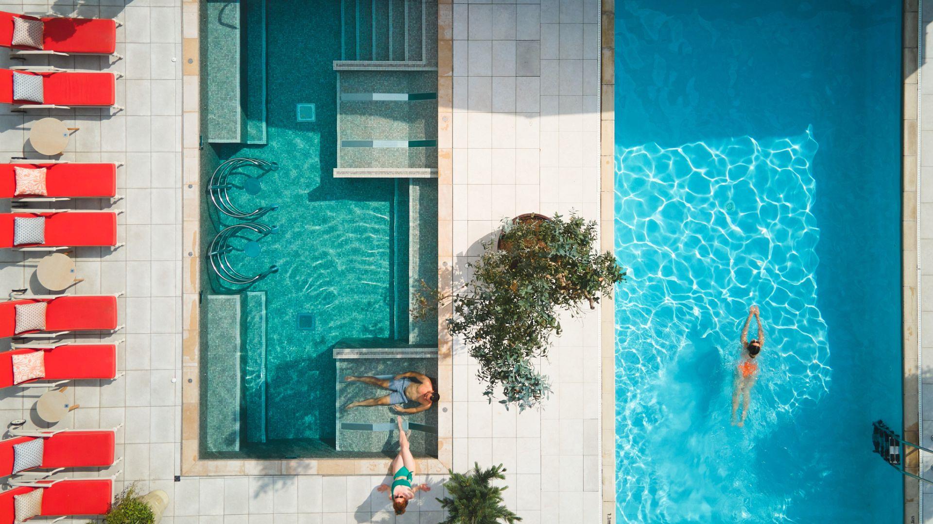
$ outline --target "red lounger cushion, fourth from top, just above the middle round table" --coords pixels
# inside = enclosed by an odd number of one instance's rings
[[[46,217],[46,242],[17,247],[112,246],[117,244],[117,214],[102,212],[42,213]],[[36,216],[32,213],[0,214],[0,248],[13,247],[14,218]]]

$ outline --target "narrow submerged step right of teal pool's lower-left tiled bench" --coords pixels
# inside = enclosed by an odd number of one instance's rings
[[[266,441],[266,292],[247,291],[244,353],[246,441]]]

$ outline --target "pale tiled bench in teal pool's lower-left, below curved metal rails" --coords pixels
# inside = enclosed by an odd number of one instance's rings
[[[207,344],[201,355],[202,442],[207,451],[240,449],[239,295],[205,295]]]

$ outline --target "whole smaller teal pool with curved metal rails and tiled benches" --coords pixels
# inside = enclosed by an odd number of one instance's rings
[[[343,407],[350,400],[383,393],[344,384],[342,376],[408,370],[437,376],[436,357],[425,357],[423,351],[433,344],[436,355],[436,319],[415,323],[409,315],[411,290],[420,289],[423,280],[428,285],[437,282],[436,180],[341,178],[334,173],[340,167],[341,117],[346,123],[373,113],[366,122],[374,128],[358,124],[344,139],[436,139],[436,96],[369,101],[366,106],[346,102],[353,97],[346,96],[347,82],[341,90],[335,65],[347,58],[346,43],[370,46],[364,50],[369,54],[354,53],[350,60],[384,62],[391,58],[388,39],[410,29],[397,20],[414,16],[414,8],[421,6],[393,0],[395,9],[383,11],[389,3],[363,4],[202,4],[202,42],[207,42],[202,51],[207,84],[202,186],[214,185],[212,173],[230,159],[259,159],[277,166],[272,170],[246,164],[227,180],[233,206],[246,212],[272,207],[267,213],[230,216],[206,194],[202,203],[204,259],[214,260],[209,253],[229,252],[230,268],[247,276],[265,275],[246,285],[230,283],[209,263],[202,268],[202,457],[382,456],[391,440],[388,431],[369,426],[391,420],[389,408],[346,412]],[[357,18],[348,19],[352,14]],[[276,29],[283,27],[287,31]],[[361,34],[364,30],[369,33]],[[231,39],[238,39],[238,46],[231,45]],[[414,34],[404,39],[415,41],[420,42]],[[386,54],[381,56],[383,50]],[[411,50],[407,52],[409,57]],[[237,72],[239,76],[230,78]],[[437,91],[437,73],[428,68],[369,75],[383,81],[379,88],[387,86],[390,93],[407,92],[394,88],[412,76],[433,80],[433,85],[417,84],[416,92]],[[372,82],[358,81],[355,88],[383,92]],[[425,110],[427,104],[433,109]],[[419,119],[424,115],[429,118]],[[434,134],[425,136],[428,132]],[[344,148],[346,142],[352,140],[345,140]],[[379,153],[408,160],[408,151],[398,149],[383,147]],[[376,165],[365,162],[376,155],[371,147],[354,150],[364,151],[359,155],[363,160],[350,167],[386,167],[384,159]],[[211,243],[225,228],[254,222],[272,229],[261,238],[238,230],[226,244]],[[225,274],[230,276],[229,271]],[[361,357],[368,349],[379,350],[381,358]],[[421,356],[412,356],[412,349]],[[336,354],[341,350],[352,354],[339,360]],[[411,415],[408,421],[436,428],[436,412]],[[341,434],[341,421],[354,423],[355,429]],[[437,453],[436,434],[415,431],[411,443],[415,454]]]

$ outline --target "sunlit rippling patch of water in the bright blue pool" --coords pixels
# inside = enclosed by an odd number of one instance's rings
[[[756,485],[741,464],[755,460],[754,439],[829,391],[814,278],[816,151],[811,130],[617,150],[616,245],[629,271],[616,298],[623,521],[676,520],[672,510],[700,520],[781,514],[781,497],[745,506]],[[730,425],[732,370],[752,304],[766,342],[741,431]],[[727,445],[735,441],[748,448]],[[684,476],[684,458],[699,476]]]

